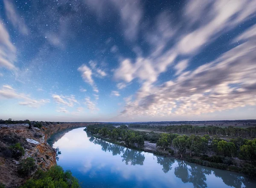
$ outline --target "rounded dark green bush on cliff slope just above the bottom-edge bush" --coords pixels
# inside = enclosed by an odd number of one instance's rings
[[[28,157],[23,159],[18,166],[18,173],[22,176],[28,176],[32,171],[35,171],[35,159]]]

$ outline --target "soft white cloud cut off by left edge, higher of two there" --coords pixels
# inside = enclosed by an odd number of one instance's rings
[[[9,70],[17,70],[14,65],[16,61],[16,47],[10,40],[9,33],[0,21],[0,67]]]

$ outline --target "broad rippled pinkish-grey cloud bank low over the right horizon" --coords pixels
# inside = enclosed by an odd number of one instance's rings
[[[247,41],[215,61],[126,101],[122,116],[211,113],[256,105],[256,46]],[[250,67],[250,69],[248,69]]]

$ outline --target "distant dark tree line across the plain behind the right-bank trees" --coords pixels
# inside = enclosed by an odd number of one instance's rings
[[[231,136],[242,138],[256,137],[256,127],[218,127],[218,126],[192,126],[192,125],[169,125],[169,126],[151,126],[147,124],[131,124],[131,128],[150,128],[158,129],[165,132],[182,133],[182,134],[201,134],[201,135],[217,135],[217,136]]]

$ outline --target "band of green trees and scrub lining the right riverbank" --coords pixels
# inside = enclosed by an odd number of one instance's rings
[[[145,133],[128,130],[126,126],[90,125],[85,129],[93,135],[108,138],[130,148],[138,148],[158,155],[175,156],[188,162],[223,170],[236,171],[255,178],[256,139],[241,137],[224,141],[218,136],[179,136],[174,133]],[[140,138],[140,139],[138,139]],[[156,148],[143,148],[144,140],[156,143]],[[238,160],[240,159],[240,160]]]

